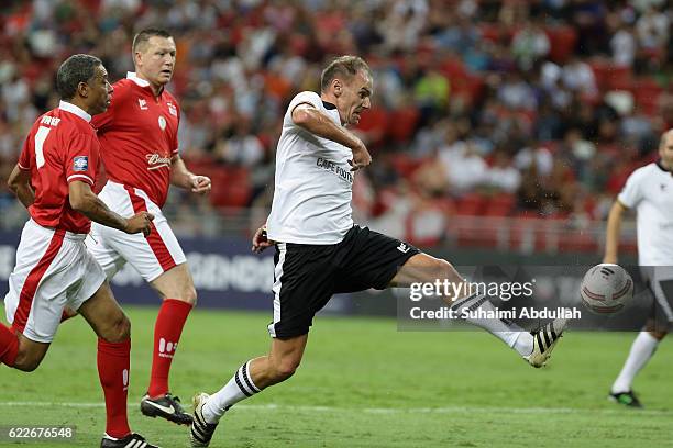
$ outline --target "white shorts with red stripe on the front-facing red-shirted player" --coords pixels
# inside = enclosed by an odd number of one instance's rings
[[[114,277],[126,261],[150,282],[187,260],[162,210],[143,190],[108,181],[98,197],[110,210],[124,217],[143,211],[154,215],[152,233],[146,238],[142,233],[129,235],[91,223],[87,248],[103,268],[108,279]]]

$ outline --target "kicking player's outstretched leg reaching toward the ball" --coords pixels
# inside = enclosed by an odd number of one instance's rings
[[[438,279],[442,281],[446,279],[456,284],[465,282],[465,279],[449,261],[421,253],[409,258],[393,278],[390,287],[409,287],[415,282],[432,283]],[[445,301],[456,311],[470,307],[485,311],[484,315],[487,312],[495,312],[493,304],[484,295],[477,293],[455,298],[446,296]],[[566,325],[564,318],[558,318],[537,332],[529,333],[512,322],[498,318],[467,318],[466,322],[484,328],[503,340],[533,367],[542,367],[549,359]]]

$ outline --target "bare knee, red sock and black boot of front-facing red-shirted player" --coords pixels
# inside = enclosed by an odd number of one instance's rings
[[[152,373],[147,394],[141,401],[141,411],[151,417],[163,417],[177,424],[189,425],[177,396],[170,394],[168,376],[180,335],[189,312],[196,304],[197,293],[186,262],[165,271],[151,282],[163,299],[154,325]]]

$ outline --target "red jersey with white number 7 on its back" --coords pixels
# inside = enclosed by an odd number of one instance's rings
[[[35,202],[32,219],[45,227],[89,233],[91,220],[70,206],[68,183],[84,181],[93,187],[100,145],[80,108],[62,101],[42,115],[23,143],[19,168],[31,171]]]

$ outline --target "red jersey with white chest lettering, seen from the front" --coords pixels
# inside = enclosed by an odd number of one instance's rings
[[[135,74],[113,87],[110,108],[92,120],[108,178],[140,188],[161,208],[168,195],[170,159],[178,153],[178,103],[165,89],[154,97]]]

